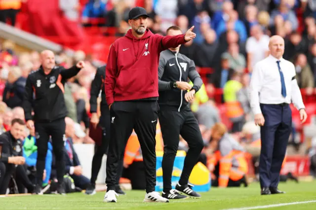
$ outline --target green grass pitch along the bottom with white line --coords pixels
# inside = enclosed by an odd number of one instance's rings
[[[279,184],[280,195],[260,195],[258,183],[240,188],[211,188],[201,199],[170,200],[170,203],[143,203],[145,191],[126,191],[118,203],[102,202],[104,192],[94,196],[83,193],[31,195],[0,198],[0,210],[316,210],[316,181]],[[312,201],[311,203],[293,202]],[[281,204],[283,206],[268,206]]]

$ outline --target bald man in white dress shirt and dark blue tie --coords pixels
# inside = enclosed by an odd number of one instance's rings
[[[272,36],[269,50],[270,55],[255,65],[250,82],[250,105],[256,125],[261,126],[261,195],[284,193],[277,185],[291,132],[291,101],[299,109],[302,123],[307,118],[294,65],[282,58],[284,39]]]

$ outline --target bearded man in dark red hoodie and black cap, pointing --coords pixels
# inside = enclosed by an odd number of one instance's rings
[[[105,92],[111,115],[111,140],[107,157],[107,193],[104,202],[117,202],[115,183],[118,161],[123,158],[126,141],[135,130],[141,145],[146,173],[144,202],[169,202],[155,192],[156,125],[158,120],[158,61],[160,52],[176,48],[195,38],[185,35],[154,35],[147,29],[147,13],[142,7],[129,12],[132,27],[111,46],[106,67]]]

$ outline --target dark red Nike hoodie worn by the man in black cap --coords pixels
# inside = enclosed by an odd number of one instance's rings
[[[108,105],[158,97],[158,62],[160,52],[186,43],[184,35],[162,36],[149,29],[140,39],[127,34],[111,46],[105,76]]]

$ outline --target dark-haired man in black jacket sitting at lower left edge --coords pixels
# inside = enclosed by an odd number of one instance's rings
[[[6,193],[11,175],[14,173],[16,182],[22,183],[29,193],[34,191],[34,186],[26,175],[26,169],[23,166],[25,164],[22,150],[24,129],[23,120],[13,119],[10,131],[0,135],[0,195]]]

